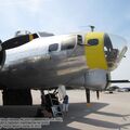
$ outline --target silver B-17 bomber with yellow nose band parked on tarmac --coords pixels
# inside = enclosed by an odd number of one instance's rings
[[[123,38],[106,32],[54,36],[17,35],[0,44],[0,89],[3,105],[31,105],[30,90],[61,84],[101,91],[127,52]],[[99,95],[99,94],[98,94]]]

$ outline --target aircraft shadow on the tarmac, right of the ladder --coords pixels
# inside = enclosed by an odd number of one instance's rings
[[[99,119],[88,118],[89,114],[99,114],[103,116],[110,116],[110,117],[119,117],[126,119],[130,117],[130,115],[119,115],[114,113],[104,113],[99,112],[99,109],[107,106],[106,103],[92,103],[91,107],[87,107],[86,103],[72,103],[69,105],[69,114],[67,117],[64,118],[63,122],[51,122],[50,126],[44,126],[46,130],[89,130],[87,125],[94,126],[94,127],[102,127],[105,129],[118,129],[125,128],[130,123],[119,125],[112,121],[103,121]],[[94,130],[94,129],[93,129]]]

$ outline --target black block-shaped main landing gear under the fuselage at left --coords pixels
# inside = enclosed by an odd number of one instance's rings
[[[2,100],[3,105],[32,105],[30,89],[4,89]]]

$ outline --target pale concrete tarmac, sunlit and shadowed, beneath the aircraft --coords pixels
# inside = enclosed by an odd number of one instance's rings
[[[100,100],[91,92],[90,106],[87,106],[84,90],[68,90],[67,94],[69,112],[63,121],[51,121],[34,130],[130,130],[130,92],[102,92]],[[39,92],[34,91],[32,98],[34,106],[0,106],[0,117],[35,117],[40,104]]]

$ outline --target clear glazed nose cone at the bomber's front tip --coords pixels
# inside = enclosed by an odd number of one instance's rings
[[[115,69],[127,51],[127,41],[118,36],[104,35],[104,51],[109,70]]]

